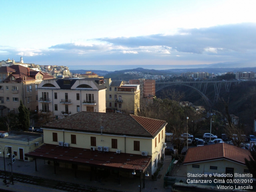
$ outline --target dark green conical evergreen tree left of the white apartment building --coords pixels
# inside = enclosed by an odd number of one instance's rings
[[[28,108],[25,107],[22,101],[20,100],[20,107],[18,109],[19,109],[20,129],[23,131],[28,131],[28,128],[30,126]]]

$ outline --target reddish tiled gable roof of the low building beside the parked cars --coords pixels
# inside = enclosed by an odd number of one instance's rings
[[[210,161],[215,159],[228,159],[245,164],[244,158],[249,159],[250,151],[227,143],[217,143],[200,147],[189,148],[183,164]]]

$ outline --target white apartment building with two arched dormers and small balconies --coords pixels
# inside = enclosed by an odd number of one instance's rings
[[[57,119],[80,111],[106,112],[106,87],[100,78],[45,80],[38,86],[38,95],[39,110],[53,111]]]

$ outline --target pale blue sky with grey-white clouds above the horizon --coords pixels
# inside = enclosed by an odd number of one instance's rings
[[[256,67],[255,4],[0,0],[0,60],[22,56],[25,63],[70,68],[237,61]]]

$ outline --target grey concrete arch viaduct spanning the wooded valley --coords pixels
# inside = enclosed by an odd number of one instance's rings
[[[196,90],[204,99],[206,104],[208,106],[212,106],[213,103],[216,103],[219,98],[220,98],[220,88],[224,84],[225,85],[225,90],[226,92],[230,91],[230,86],[232,83],[238,83],[240,81],[238,80],[232,80],[232,81],[186,81],[186,82],[157,82],[156,83],[156,92],[162,90],[165,87],[169,87],[172,85],[184,85],[191,87]],[[214,101],[210,101],[205,93],[207,89],[208,84],[213,84],[214,85],[214,91],[215,91],[215,96],[214,96]]]

